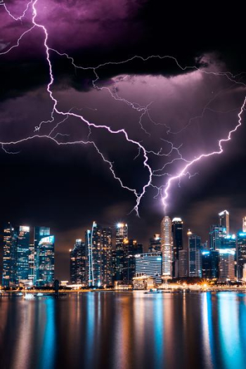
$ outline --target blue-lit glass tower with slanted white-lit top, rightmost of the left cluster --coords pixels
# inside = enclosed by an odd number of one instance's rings
[[[48,235],[41,238],[36,257],[35,285],[53,285],[55,269],[55,238]]]

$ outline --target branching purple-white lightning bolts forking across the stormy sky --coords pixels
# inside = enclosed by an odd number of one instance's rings
[[[170,59],[173,60],[174,63],[176,63],[177,67],[179,67],[183,72],[186,72],[188,70],[199,70],[202,73],[208,74],[208,75],[214,75],[214,76],[219,76],[219,77],[226,77],[228,80],[230,80],[231,82],[233,82],[234,84],[241,84],[242,86],[245,86],[244,83],[242,83],[241,81],[238,82],[238,80],[236,79],[237,77],[239,77],[240,75],[242,75],[244,72],[238,74],[238,75],[233,75],[231,72],[213,72],[213,71],[207,71],[204,68],[199,68],[196,65],[193,66],[185,66],[183,67],[182,65],[179,64],[178,60],[176,58],[174,58],[174,56],[148,56],[146,58],[143,58],[142,56],[133,56],[132,58],[128,58],[127,60],[122,60],[119,62],[108,62],[108,63],[103,63],[97,66],[89,66],[89,67],[82,67],[80,65],[76,65],[75,64],[75,60],[69,56],[67,53],[60,53],[59,51],[57,51],[54,48],[50,48],[48,46],[48,31],[46,30],[46,27],[44,27],[44,25],[39,24],[39,22],[37,22],[37,5],[38,0],[31,0],[28,2],[25,10],[23,11],[22,15],[20,15],[19,17],[15,17],[11,14],[10,11],[8,11],[8,8],[6,7],[6,4],[4,4],[2,1],[0,2],[1,6],[4,6],[6,12],[8,13],[8,15],[11,16],[11,18],[13,18],[13,20],[15,21],[21,21],[23,18],[25,18],[25,15],[27,13],[27,11],[31,8],[32,9],[32,26],[26,30],[25,32],[23,32],[20,37],[18,38],[17,42],[11,46],[10,48],[8,48],[8,50],[1,52],[0,55],[4,55],[6,53],[9,53],[13,48],[16,48],[20,45],[20,41],[22,40],[22,37],[25,37],[25,35],[28,32],[31,32],[34,28],[39,28],[43,33],[44,33],[44,48],[45,48],[45,53],[46,53],[46,61],[48,64],[48,71],[49,71],[49,82],[48,85],[46,87],[46,91],[48,92],[48,96],[51,98],[51,101],[53,103],[53,108],[51,111],[51,119],[48,119],[47,121],[43,121],[39,124],[39,126],[35,127],[34,130],[34,134],[30,137],[27,138],[22,138],[19,141],[10,141],[10,142],[0,142],[3,150],[6,153],[11,153],[8,150],[6,150],[4,148],[5,145],[17,145],[18,143],[22,143],[25,141],[29,141],[32,140],[34,138],[46,138],[48,140],[53,141],[54,143],[58,144],[58,145],[77,145],[77,144],[90,144],[93,145],[93,147],[96,149],[98,155],[101,156],[102,160],[108,164],[108,167],[110,169],[110,171],[112,172],[112,176],[119,181],[120,185],[122,186],[122,188],[129,190],[131,193],[134,193],[135,197],[136,197],[136,205],[134,206],[134,211],[136,212],[136,214],[139,216],[138,214],[138,207],[140,205],[140,202],[143,198],[143,196],[146,193],[146,190],[148,187],[153,187],[155,189],[157,189],[157,195],[160,195],[162,198],[162,204],[164,205],[164,210],[166,211],[167,209],[167,199],[169,198],[169,192],[171,190],[171,186],[175,181],[181,181],[181,179],[183,178],[183,176],[188,176],[189,178],[192,177],[195,174],[190,174],[190,167],[193,166],[193,164],[195,164],[195,162],[198,162],[200,160],[202,160],[205,157],[210,157],[212,155],[219,155],[221,153],[223,153],[223,144],[230,141],[231,140],[231,136],[232,134],[237,131],[237,129],[240,127],[240,125],[242,124],[242,112],[245,110],[245,104],[246,104],[246,97],[243,101],[243,104],[240,108],[240,112],[238,113],[238,124],[236,124],[235,128],[232,129],[231,131],[229,131],[228,136],[226,136],[226,138],[221,138],[221,140],[219,140],[219,149],[216,151],[213,151],[211,153],[205,153],[205,154],[201,154],[198,157],[195,157],[193,160],[186,160],[180,153],[179,149],[181,148],[181,146],[179,147],[175,147],[173,143],[171,143],[170,141],[164,140],[163,138],[162,141],[164,141],[165,143],[170,145],[170,150],[167,153],[163,153],[162,152],[162,148],[160,148],[159,151],[155,152],[153,150],[147,150],[143,144],[139,141],[133,140],[132,138],[129,137],[129,134],[127,133],[127,131],[125,129],[112,129],[111,127],[108,127],[105,124],[95,124],[93,122],[89,122],[89,120],[85,119],[83,117],[83,115],[79,115],[77,113],[75,113],[73,111],[73,108],[68,110],[68,111],[63,111],[60,110],[60,108],[58,108],[58,101],[57,99],[54,97],[53,95],[53,91],[52,91],[52,86],[53,86],[53,82],[54,82],[54,77],[53,77],[53,67],[51,64],[51,52],[57,53],[59,56],[64,56],[65,58],[67,58],[68,60],[71,61],[72,65],[75,68],[80,68],[82,70],[93,70],[93,73],[95,75],[95,78],[92,81],[93,87],[94,89],[97,90],[103,90],[106,89],[109,93],[110,96],[112,96],[113,99],[115,99],[116,101],[121,101],[124,104],[129,105],[129,107],[131,107],[132,109],[136,110],[137,112],[139,112],[140,116],[139,116],[139,121],[138,123],[140,124],[141,129],[143,129],[143,131],[145,132],[145,134],[150,135],[150,133],[143,127],[143,123],[142,123],[142,119],[143,117],[146,115],[148,117],[148,119],[150,120],[150,122],[152,122],[153,124],[159,125],[161,123],[156,123],[151,115],[150,115],[150,105],[153,102],[148,103],[145,106],[139,105],[138,103],[134,103],[131,101],[128,101],[126,98],[122,98],[121,96],[119,96],[119,94],[117,93],[117,90],[114,89],[113,91],[111,91],[111,89],[107,86],[98,86],[97,82],[99,81],[100,77],[98,75],[98,70],[102,67],[104,67],[105,65],[121,65],[124,63],[129,63],[133,60],[142,60],[143,62],[148,61],[150,59],[153,58],[157,58],[160,60],[164,60],[164,59]],[[211,99],[207,105],[205,106],[204,110],[202,111],[202,115],[199,117],[202,117],[204,115],[205,110],[209,109],[209,104],[214,100]],[[62,120],[60,120],[60,122],[58,122],[53,129],[51,129],[51,131],[49,132],[49,134],[47,135],[41,135],[41,134],[37,134],[36,132],[39,132],[41,129],[42,124],[45,123],[53,123],[55,121],[55,114],[63,117]],[[58,136],[67,136],[66,134],[60,134],[59,132],[55,134],[56,129],[60,126],[60,124],[63,124],[63,122],[65,122],[69,117],[75,117],[77,119],[80,119],[83,124],[86,124],[86,126],[89,129],[89,135],[88,135],[88,139],[86,141],[80,140],[80,141],[66,141],[66,142],[60,142],[58,141]],[[198,117],[195,117],[198,118]],[[190,122],[195,119],[195,118],[191,118],[190,121],[188,122],[188,124],[190,124]],[[167,127],[166,124],[162,124],[167,128],[167,133],[171,133],[171,134],[178,134],[180,133],[179,131],[177,132],[171,132],[170,127]],[[122,182],[122,180],[119,178],[119,176],[117,176],[115,174],[115,170],[113,168],[113,162],[110,162],[110,160],[107,160],[105,158],[105,156],[103,155],[103,153],[101,152],[101,150],[99,150],[98,146],[96,145],[96,143],[92,140],[89,140],[89,136],[91,134],[91,128],[94,129],[103,129],[105,131],[108,131],[110,134],[117,134],[117,135],[122,135],[124,136],[125,140],[129,143],[132,143],[134,145],[136,145],[136,148],[138,150],[138,155],[136,155],[136,157],[138,157],[141,153],[143,155],[143,167],[145,167],[145,169],[147,169],[148,171],[148,180],[145,182],[145,184],[143,185],[143,188],[141,190],[140,193],[138,193],[138,191],[135,188],[130,188],[129,186],[125,186],[124,183]],[[185,129],[186,127],[184,127]],[[181,130],[183,131],[183,129]],[[55,134],[53,136],[53,134]],[[176,152],[178,154],[178,157],[174,157],[174,159],[172,159],[170,162],[167,162],[166,164],[164,164],[164,166],[160,169],[155,169],[153,170],[150,167],[149,164],[149,155],[157,155],[158,157],[169,157],[171,155],[171,153]],[[13,153],[12,153],[13,154]],[[135,159],[136,159],[135,157]],[[162,171],[167,167],[167,165],[172,164],[173,162],[180,160],[181,162],[185,162],[183,169],[181,169],[178,174],[172,176],[171,174],[168,173],[162,173]],[[153,185],[152,181],[153,181],[153,176],[167,176],[167,183],[163,186],[155,186]]]

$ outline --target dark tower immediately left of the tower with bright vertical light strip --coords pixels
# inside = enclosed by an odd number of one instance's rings
[[[70,281],[74,284],[86,284],[86,245],[79,238],[70,250]]]

